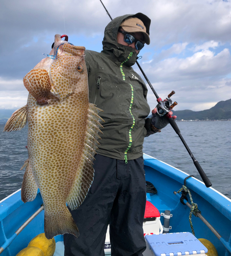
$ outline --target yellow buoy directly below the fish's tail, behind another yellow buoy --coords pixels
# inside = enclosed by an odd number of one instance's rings
[[[31,240],[31,242],[29,243],[28,247],[30,246],[35,246],[40,248],[43,253],[44,256],[53,256],[54,252],[55,252],[55,239],[47,239],[45,237],[44,233],[38,234],[38,236],[36,236],[35,238],[33,238]]]

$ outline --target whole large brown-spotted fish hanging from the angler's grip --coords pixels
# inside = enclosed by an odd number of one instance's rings
[[[84,50],[55,35],[50,55],[24,77],[27,105],[12,114],[4,129],[20,130],[28,122],[21,199],[33,201],[40,189],[48,239],[63,233],[79,236],[66,203],[77,208],[94,178],[92,162],[103,120],[101,110],[88,102]]]

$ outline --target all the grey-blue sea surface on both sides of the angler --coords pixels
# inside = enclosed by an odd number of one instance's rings
[[[177,122],[181,135],[213,187],[231,198],[231,121]],[[0,124],[0,200],[21,188],[28,159],[27,126],[3,133]],[[145,138],[144,152],[201,180],[193,161],[170,124]]]

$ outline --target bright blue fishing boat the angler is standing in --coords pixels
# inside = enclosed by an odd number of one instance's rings
[[[153,238],[156,240],[180,235],[184,236],[181,240],[185,241],[189,234],[196,240],[209,240],[219,256],[231,255],[231,200],[180,169],[146,154],[144,164],[147,184],[151,184],[151,190],[147,190],[144,219],[147,241],[144,255],[158,255],[152,251],[150,241]],[[33,202],[23,203],[20,189],[3,199],[0,202],[0,221],[1,256],[15,256],[37,234],[44,232],[44,212],[39,190]],[[107,233],[106,255],[110,255],[108,239]],[[178,246],[184,243],[181,240],[177,242]],[[63,236],[56,236],[55,241],[54,256],[61,256],[64,253]],[[161,255],[189,254],[198,253]]]

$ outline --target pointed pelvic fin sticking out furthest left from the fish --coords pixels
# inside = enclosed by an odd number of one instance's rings
[[[27,105],[16,110],[8,119],[4,132],[20,131],[27,124]]]

